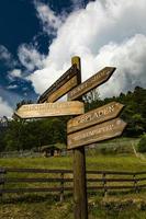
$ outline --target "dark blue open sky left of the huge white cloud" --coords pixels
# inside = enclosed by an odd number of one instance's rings
[[[35,101],[38,93],[35,92],[32,82],[25,77],[37,69],[30,69],[20,60],[19,49],[25,45],[35,47],[41,55],[48,54],[48,47],[56,34],[46,33],[43,21],[37,14],[37,3],[49,7],[56,15],[69,14],[75,10],[76,2],[66,0],[1,0],[0,1],[0,116],[5,113],[5,107],[15,107],[21,100]],[[77,8],[86,7],[87,1],[77,4]],[[19,73],[22,72],[23,77]],[[3,107],[2,107],[2,103]],[[10,114],[10,108],[7,114]]]

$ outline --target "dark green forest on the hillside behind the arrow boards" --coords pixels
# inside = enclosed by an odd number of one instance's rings
[[[101,100],[98,91],[89,93],[83,97],[86,111],[105,105],[112,101],[125,105],[121,118],[127,123],[123,132],[125,137],[137,138],[146,132],[146,89],[136,87],[126,94]],[[32,103],[22,101],[16,108],[23,104]],[[7,126],[0,126],[0,151],[13,150],[37,150],[40,147],[53,143],[66,145],[66,124],[71,116],[50,117],[44,119],[24,120],[13,117],[8,120]]]

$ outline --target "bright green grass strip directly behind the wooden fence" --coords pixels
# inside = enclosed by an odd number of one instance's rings
[[[11,158],[0,159],[2,168],[42,168],[42,169],[72,169],[72,157],[61,158]],[[112,171],[142,171],[146,170],[146,160],[136,158],[134,154],[122,155],[87,155],[88,170]]]

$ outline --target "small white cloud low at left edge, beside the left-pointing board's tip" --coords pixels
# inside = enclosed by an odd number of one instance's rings
[[[3,116],[11,117],[12,113],[13,113],[12,108],[0,96],[0,117],[3,117]]]

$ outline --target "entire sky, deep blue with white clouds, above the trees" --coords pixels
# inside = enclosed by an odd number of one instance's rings
[[[146,87],[145,0],[1,0],[0,116],[21,100],[36,101],[69,67],[82,81],[105,66],[116,73],[101,97]]]

